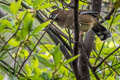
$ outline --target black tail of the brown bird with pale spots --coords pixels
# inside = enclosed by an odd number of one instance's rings
[[[97,23],[92,30],[102,41],[112,36],[111,33],[100,23]]]

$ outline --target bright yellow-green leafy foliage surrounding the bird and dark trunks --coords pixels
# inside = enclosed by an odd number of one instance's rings
[[[113,1],[112,5],[116,11],[103,24],[111,31],[112,38],[101,41],[96,36],[95,48],[90,55],[90,63],[93,66],[97,66],[120,44],[120,13],[117,11],[120,8],[120,0]],[[70,0],[65,0],[65,3],[69,2]],[[87,0],[85,3],[80,1],[79,8],[86,8],[88,3]],[[110,1],[110,3],[113,2]],[[26,9],[23,4],[29,8]],[[70,58],[66,59],[66,55],[61,51],[61,45],[56,45],[46,31],[52,25],[47,17],[56,7],[65,8],[59,0],[0,1],[0,9],[7,13],[6,16],[0,18],[0,80],[4,80],[6,75],[10,80],[76,80],[70,64],[80,54],[70,55]],[[108,7],[103,7],[106,11],[109,10]],[[40,17],[44,22],[39,23],[36,19],[37,11],[40,11]],[[60,30],[65,35],[69,35],[66,29]],[[63,40],[69,44],[66,38]],[[73,46],[72,43],[71,46]],[[118,49],[98,67],[96,73],[101,80],[120,79],[119,54]],[[90,76],[91,80],[95,80],[91,71]]]

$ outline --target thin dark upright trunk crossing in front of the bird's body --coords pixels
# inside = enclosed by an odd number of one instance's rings
[[[73,48],[73,56],[79,54],[79,26],[78,26],[78,3],[79,0],[75,0],[74,3],[74,48]],[[81,80],[81,76],[78,71],[78,58],[72,62],[73,71],[76,76],[76,80]]]

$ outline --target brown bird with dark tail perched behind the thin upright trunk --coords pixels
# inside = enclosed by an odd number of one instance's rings
[[[93,32],[103,41],[111,37],[111,33],[99,23],[97,20],[98,12],[79,10],[78,25],[82,32],[93,30]],[[61,28],[74,30],[74,10],[54,10],[50,16],[50,20],[55,21]]]

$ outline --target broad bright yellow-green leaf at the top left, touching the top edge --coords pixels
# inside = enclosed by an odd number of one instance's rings
[[[11,5],[10,5],[11,13],[13,13],[14,15],[17,14],[19,8],[21,7],[21,2],[22,2],[22,0],[18,0],[17,2],[11,3]]]

